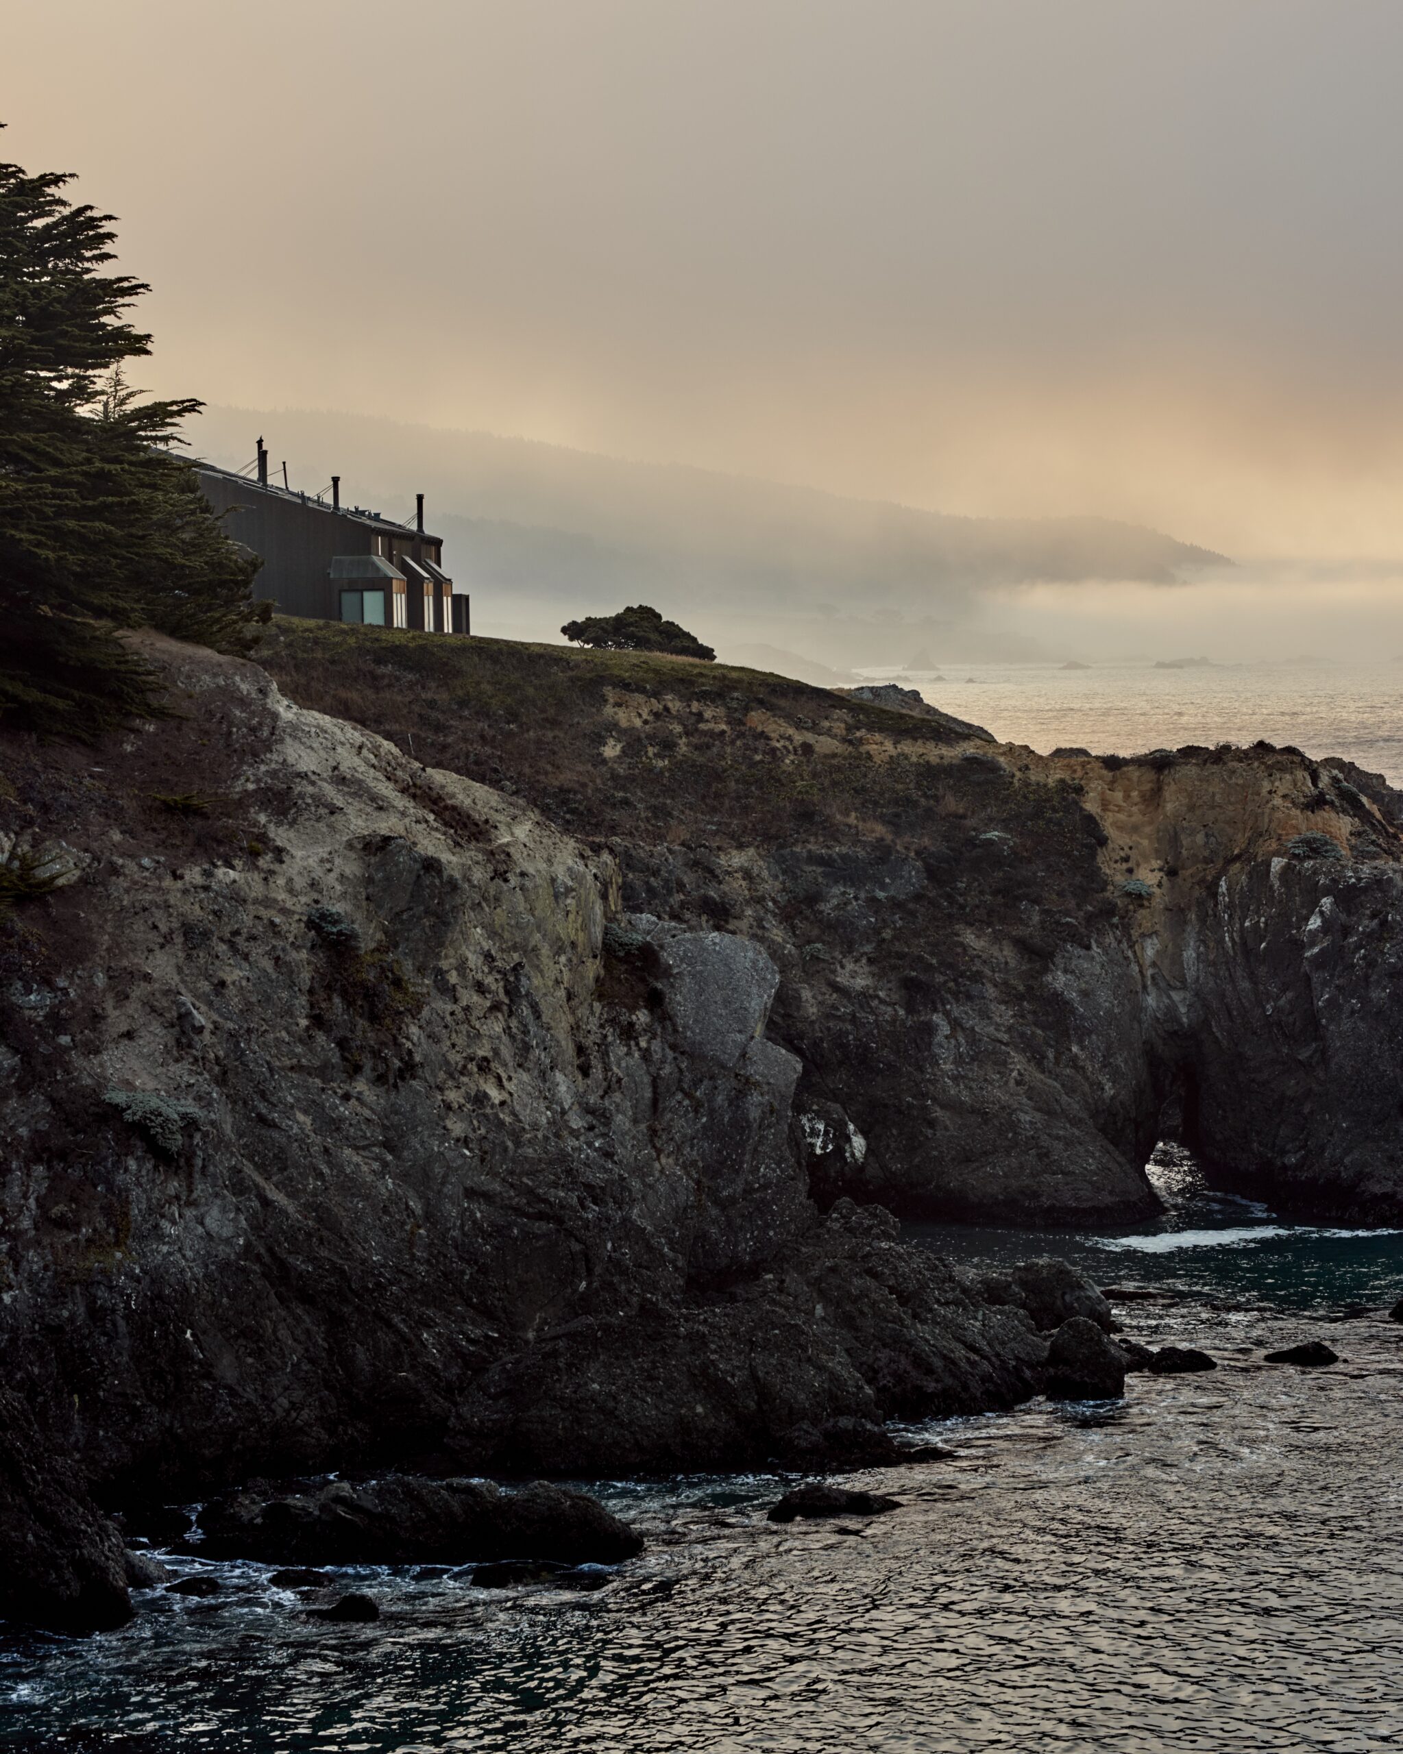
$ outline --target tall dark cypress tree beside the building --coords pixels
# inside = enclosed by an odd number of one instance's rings
[[[240,651],[268,605],[170,449],[202,403],[126,388],[147,288],[103,272],[112,216],[68,181],[0,163],[0,723],[91,740],[163,710],[118,628]]]

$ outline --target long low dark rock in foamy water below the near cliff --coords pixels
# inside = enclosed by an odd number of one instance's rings
[[[644,1540],[584,1493],[537,1482],[514,1493],[482,1480],[386,1475],[316,1493],[237,1493],[200,1512],[200,1552],[300,1565],[463,1565],[470,1559],[614,1563]]]

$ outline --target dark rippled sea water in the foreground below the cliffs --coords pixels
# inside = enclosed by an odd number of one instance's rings
[[[1212,1373],[922,1428],[956,1459],[849,1477],[901,1500],[882,1517],[766,1522],[773,1475],[595,1482],[649,1551],[589,1594],[344,1572],[382,1619],[328,1626],[267,1566],[174,1561],[223,1593],[0,1651],[0,1747],[1396,1749],[1403,1326],[1340,1305],[1403,1293],[1403,1237],[1284,1226],[1172,1149],[1156,1177],[1142,1235],[915,1240],[993,1263],[1052,1242],[1157,1289],[1126,1326]],[[1342,1361],[1264,1363],[1303,1338]]]

